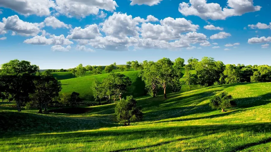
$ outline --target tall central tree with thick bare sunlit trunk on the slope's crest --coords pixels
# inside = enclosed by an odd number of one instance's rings
[[[172,83],[172,79],[175,77],[173,63],[169,58],[163,58],[158,60],[151,70],[155,73],[155,80],[158,81],[164,89],[164,99],[167,99],[167,84]]]

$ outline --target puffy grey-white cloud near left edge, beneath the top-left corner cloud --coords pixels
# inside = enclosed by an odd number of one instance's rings
[[[29,23],[20,20],[17,15],[10,16],[8,18],[3,18],[3,23],[5,24],[6,30],[11,30],[17,32],[19,35],[23,36],[35,36],[37,35],[44,26],[44,23]]]

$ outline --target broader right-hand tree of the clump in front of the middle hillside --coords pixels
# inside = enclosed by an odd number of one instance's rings
[[[120,73],[111,73],[107,77],[107,81],[110,82],[107,85],[114,95],[117,95],[120,100],[123,93],[126,93],[127,87],[132,85],[132,81],[129,77]]]

